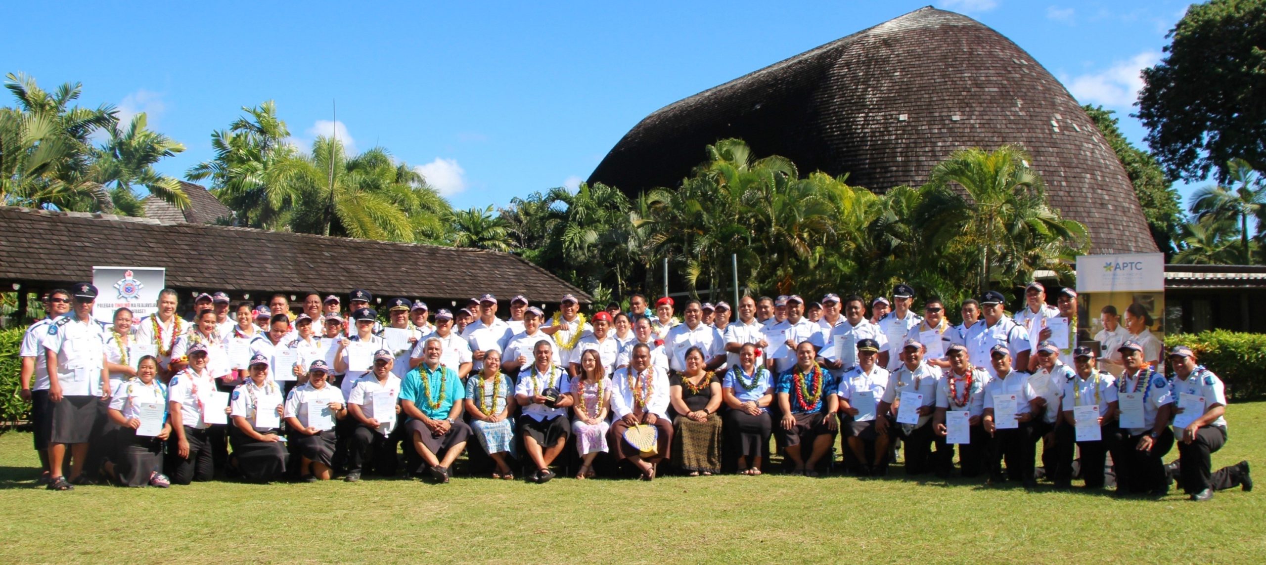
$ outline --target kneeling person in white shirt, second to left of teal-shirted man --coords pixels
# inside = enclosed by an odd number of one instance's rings
[[[347,417],[343,391],[327,380],[329,366],[315,360],[308,367],[304,384],[286,397],[286,428],[290,443],[299,454],[299,479],[315,483],[329,480],[334,466],[334,421]]]

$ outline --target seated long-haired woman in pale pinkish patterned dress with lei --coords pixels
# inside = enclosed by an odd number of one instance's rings
[[[576,479],[589,479],[594,476],[594,457],[608,451],[606,432],[611,424],[606,422],[606,414],[611,404],[611,379],[605,375],[598,350],[581,352],[579,365],[580,374],[571,380],[572,409],[576,412],[571,432],[576,435],[576,451],[584,460]]]

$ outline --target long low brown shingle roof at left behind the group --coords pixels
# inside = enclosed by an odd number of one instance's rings
[[[358,288],[384,299],[491,293],[533,303],[565,294],[591,300],[544,269],[495,251],[0,206],[0,281],[90,280],[94,265],[165,267],[167,286],[206,291],[346,295]]]

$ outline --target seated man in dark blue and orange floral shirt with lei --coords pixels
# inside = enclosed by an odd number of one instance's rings
[[[838,385],[814,360],[817,350],[808,341],[795,348],[796,364],[779,376],[779,407],[787,457],[795,464],[791,474],[818,476],[814,469],[836,442],[839,422]],[[794,397],[794,398],[793,398]],[[808,460],[803,447],[810,446]]]

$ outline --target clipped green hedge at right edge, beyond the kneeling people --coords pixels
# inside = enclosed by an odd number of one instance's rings
[[[1166,336],[1165,347],[1188,346],[1200,365],[1217,374],[1227,385],[1232,400],[1266,398],[1266,333],[1238,333],[1213,329],[1200,333]]]

